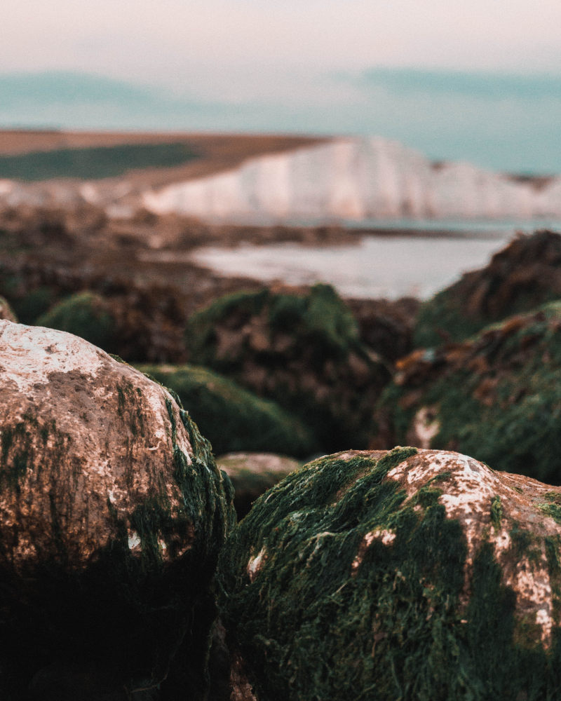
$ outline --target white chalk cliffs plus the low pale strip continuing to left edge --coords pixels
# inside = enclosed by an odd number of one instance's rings
[[[102,207],[109,217],[131,217],[144,208],[242,224],[561,217],[561,176],[517,179],[471,163],[435,164],[381,137],[336,138],[247,155],[234,164],[224,161],[227,170],[168,173],[164,181],[154,175],[157,169],[128,172],[118,179],[0,179],[0,207],[72,209],[87,203]]]

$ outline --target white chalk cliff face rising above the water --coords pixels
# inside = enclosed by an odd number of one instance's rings
[[[252,158],[236,170],[143,196],[152,212],[202,219],[439,218],[561,215],[561,178],[541,187],[469,163],[434,165],[379,137],[334,139]]]

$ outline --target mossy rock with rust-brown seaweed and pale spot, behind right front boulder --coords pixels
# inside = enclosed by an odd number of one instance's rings
[[[459,450],[561,484],[561,303],[398,363],[372,445]]]

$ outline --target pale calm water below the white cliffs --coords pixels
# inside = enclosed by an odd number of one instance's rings
[[[548,222],[548,224],[551,224]],[[403,222],[391,222],[396,233]],[[377,222],[377,226],[381,226]],[[435,233],[439,227],[446,234]],[[344,297],[396,299],[414,295],[426,299],[457,280],[461,273],[485,266],[516,231],[533,231],[532,224],[482,223],[471,231],[452,230],[450,222],[427,223],[417,233],[364,236],[356,245],[304,247],[292,243],[242,245],[233,250],[205,247],[194,260],[222,275],[245,275],[290,285],[331,283]],[[540,228],[543,228],[541,223]],[[555,227],[561,231],[561,227]],[[461,233],[459,233],[461,231]]]

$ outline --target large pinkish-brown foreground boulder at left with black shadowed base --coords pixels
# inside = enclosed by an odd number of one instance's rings
[[[208,442],[175,395],[65,332],[0,321],[0,376],[0,695],[86,674],[202,699],[233,519]]]

